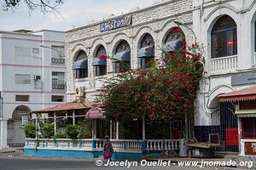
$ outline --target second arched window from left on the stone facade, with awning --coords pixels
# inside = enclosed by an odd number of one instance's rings
[[[96,57],[93,59],[92,65],[95,67],[95,74],[103,76],[107,74],[107,59],[100,56],[107,55],[106,49],[101,45],[97,48]]]

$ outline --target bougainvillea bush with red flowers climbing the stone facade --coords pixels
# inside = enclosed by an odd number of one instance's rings
[[[196,91],[203,72],[198,43],[164,53],[148,69],[113,74],[100,90],[108,119],[124,122],[146,116],[170,120],[194,113]],[[109,58],[111,59],[111,58]]]

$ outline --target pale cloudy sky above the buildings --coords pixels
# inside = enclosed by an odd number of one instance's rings
[[[125,14],[136,7],[146,8],[160,0],[66,0],[57,9],[60,14],[43,14],[39,11],[29,13],[25,3],[15,11],[3,11],[0,1],[0,31],[56,30],[66,31],[71,27],[89,24],[91,20],[102,20],[110,14]]]

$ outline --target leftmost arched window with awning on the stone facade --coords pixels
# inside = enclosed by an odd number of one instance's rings
[[[79,54],[74,59],[73,71],[75,78],[88,77],[88,60],[87,55],[83,50],[79,51]]]

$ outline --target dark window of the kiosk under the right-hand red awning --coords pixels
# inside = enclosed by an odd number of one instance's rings
[[[242,118],[243,138],[256,138],[256,117]]]

